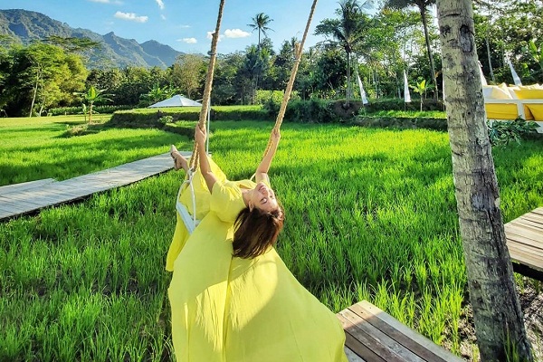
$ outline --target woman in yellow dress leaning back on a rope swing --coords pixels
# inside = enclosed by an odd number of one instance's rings
[[[177,221],[167,259],[173,270],[168,297],[176,360],[347,361],[338,319],[273,248],[283,213],[268,170],[279,131],[257,167],[256,183],[228,181],[206,157],[205,137],[196,126],[200,165],[193,183],[196,196],[202,195],[196,200],[201,222],[189,235]],[[172,157],[176,168],[186,167],[175,150]]]

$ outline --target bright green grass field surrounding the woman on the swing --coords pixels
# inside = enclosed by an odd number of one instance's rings
[[[139,147],[164,152],[168,137],[191,148],[187,138],[150,129],[56,138],[63,121],[46,121],[19,135],[46,150],[85,149],[101,165],[126,162]],[[251,176],[271,127],[214,123],[214,160],[232,179]],[[5,128],[16,133],[0,121],[3,138]],[[447,134],[289,123],[281,135],[271,182],[287,215],[278,251],[293,274],[331,310],[366,299],[460,353],[466,277]],[[115,148],[111,160],[100,151],[108,138],[130,147]],[[19,165],[2,152],[3,170]],[[40,153],[58,170],[104,168]],[[543,205],[543,145],[493,154],[505,221]],[[21,180],[33,179],[31,168]],[[173,360],[164,262],[181,177],[169,172],[0,224],[0,360]]]

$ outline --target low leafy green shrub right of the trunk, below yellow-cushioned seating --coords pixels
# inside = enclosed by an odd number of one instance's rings
[[[487,126],[492,146],[500,147],[507,146],[513,141],[519,145],[523,137],[536,133],[539,127],[536,122],[526,121],[521,118],[487,121]]]

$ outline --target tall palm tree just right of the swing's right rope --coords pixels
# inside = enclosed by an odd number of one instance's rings
[[[324,19],[315,29],[316,35],[331,36],[332,45],[341,46],[347,53],[347,95],[346,102],[352,96],[350,81],[351,53],[364,36],[364,28],[367,25],[365,14],[357,0],[342,0],[339,2],[340,19]]]

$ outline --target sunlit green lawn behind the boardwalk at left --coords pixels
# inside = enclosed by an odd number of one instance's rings
[[[111,115],[94,115],[103,122]],[[0,186],[42,178],[63,180],[167,152],[178,135],[157,129],[104,129],[65,138],[83,116],[0,119]],[[180,147],[188,142],[182,138]]]

